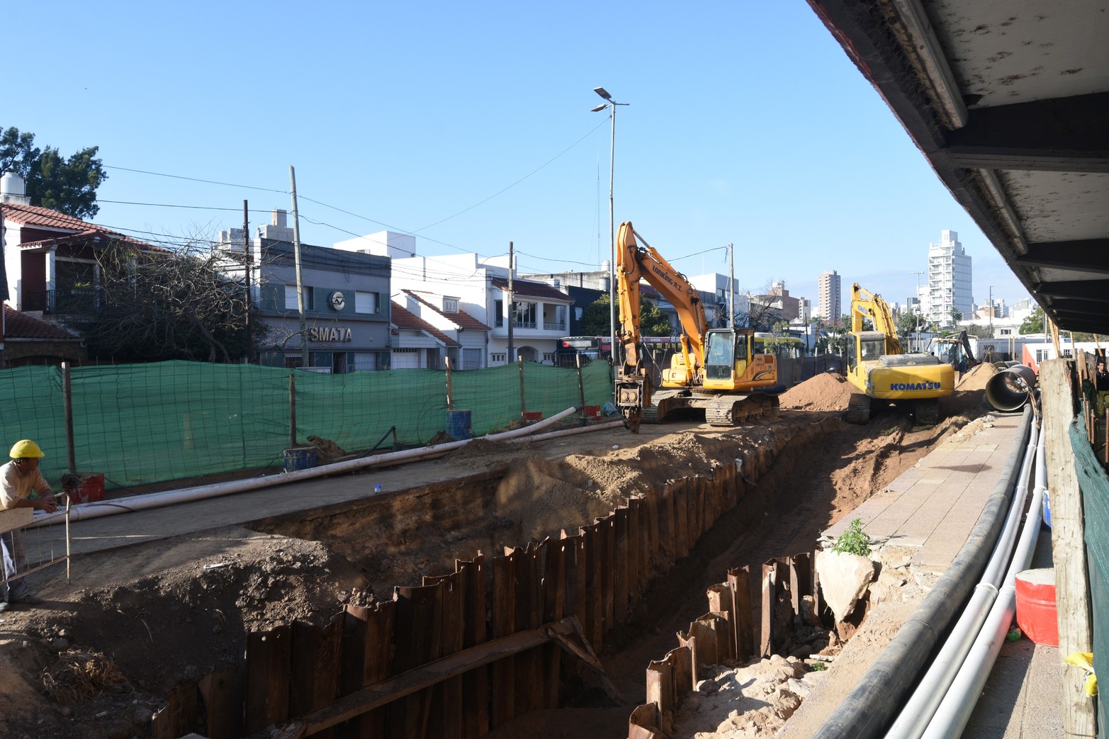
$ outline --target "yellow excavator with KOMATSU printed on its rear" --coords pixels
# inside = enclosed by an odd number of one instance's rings
[[[863,330],[869,318],[873,331]],[[889,305],[856,282],[851,288],[851,343],[845,357],[851,394],[847,422],[865,424],[874,402],[908,405],[916,423],[939,422],[939,398],[955,391],[955,371],[930,354],[906,354]]]

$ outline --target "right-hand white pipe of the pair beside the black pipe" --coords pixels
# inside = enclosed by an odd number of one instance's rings
[[[997,599],[994,601],[994,607],[990,608],[981,632],[970,648],[963,667],[959,668],[958,675],[955,676],[950,689],[944,696],[939,708],[936,709],[936,715],[922,735],[926,739],[957,737],[963,732],[967,721],[970,720],[971,712],[974,712],[975,703],[978,702],[978,696],[981,695],[981,688],[989,678],[989,671],[997,660],[1001,645],[1005,642],[1009,626],[1013,624],[1013,616],[1016,613],[1017,589],[1015,583],[1017,574],[1028,569],[1036,539],[1039,536],[1040,514],[1047,482],[1045,460],[1046,453],[1041,435],[1036,448],[1036,489],[1032,493],[1031,506],[1028,509],[1024,530],[1020,533],[1020,543],[1013,555],[1013,564],[1005,575],[1005,585],[998,590]]]

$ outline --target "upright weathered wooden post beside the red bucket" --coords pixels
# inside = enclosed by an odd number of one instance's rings
[[[1075,417],[1074,363],[1050,360],[1040,364],[1044,444],[1048,488],[1051,490],[1051,554],[1055,560],[1059,654],[1093,651],[1090,604],[1087,598],[1082,490],[1075,470],[1069,426]],[[1062,728],[1067,736],[1093,736],[1095,702],[1082,692],[1082,670],[1064,672]]]

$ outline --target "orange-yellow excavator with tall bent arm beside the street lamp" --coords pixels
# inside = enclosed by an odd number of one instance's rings
[[[635,241],[639,236],[643,245]],[[639,282],[645,280],[678,311],[681,352],[662,371],[655,388],[640,346]],[[713,426],[777,417],[777,382],[773,354],[755,354],[754,331],[709,328],[700,293],[635,232],[620,224],[617,237],[617,286],[620,300],[622,361],[617,373],[617,407],[633,432],[640,423],[662,423],[683,408],[704,412]]]

